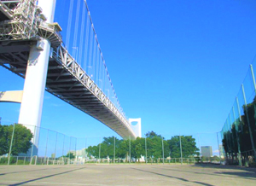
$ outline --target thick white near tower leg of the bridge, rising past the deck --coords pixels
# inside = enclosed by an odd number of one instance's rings
[[[47,22],[52,23],[55,0],[38,0],[38,6],[43,9]],[[37,47],[38,44],[41,48]],[[41,123],[50,51],[49,40],[43,38],[38,44],[33,45],[30,50],[19,116],[19,124],[26,125],[32,131],[32,155],[38,153],[38,127]]]

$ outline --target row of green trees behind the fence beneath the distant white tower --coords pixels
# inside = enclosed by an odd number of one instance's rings
[[[166,140],[154,131],[148,132],[144,137],[137,137],[135,140],[117,139],[115,137],[103,137],[103,141],[95,146],[86,149],[86,153],[90,157],[95,158],[121,158],[128,159],[131,157],[139,160],[141,156],[147,158],[160,159],[163,157],[180,158],[180,139],[174,136]],[[131,142],[131,144],[130,144]],[[181,136],[183,158],[199,156],[199,148],[196,147],[195,138],[192,136]],[[115,150],[115,152],[114,152]]]

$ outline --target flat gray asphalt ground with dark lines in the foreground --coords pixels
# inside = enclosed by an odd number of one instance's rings
[[[256,185],[256,170],[236,166],[0,166],[0,185]]]

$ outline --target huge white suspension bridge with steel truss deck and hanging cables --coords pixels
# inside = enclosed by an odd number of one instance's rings
[[[24,90],[0,92],[0,102],[21,103],[20,124],[40,126],[47,90],[120,137],[141,136],[140,119],[120,107],[85,0],[0,1],[0,65],[25,78]]]

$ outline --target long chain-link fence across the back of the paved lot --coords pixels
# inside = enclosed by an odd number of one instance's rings
[[[152,131],[137,139],[69,137],[42,127],[9,124],[0,125],[0,134],[0,165],[220,162],[217,133],[162,137]]]

